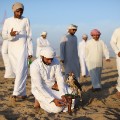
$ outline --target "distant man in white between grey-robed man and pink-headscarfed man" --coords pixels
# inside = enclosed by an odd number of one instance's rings
[[[85,61],[85,46],[87,44],[87,39],[88,36],[86,34],[83,34],[82,41],[80,41],[78,45],[78,55],[80,60],[81,73],[83,77],[88,76],[88,68]]]

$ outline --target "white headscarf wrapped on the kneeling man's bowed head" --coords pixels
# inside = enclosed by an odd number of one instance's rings
[[[55,50],[48,46],[48,47],[44,47],[41,51],[40,51],[40,55],[44,56],[46,58],[54,58],[56,55]]]

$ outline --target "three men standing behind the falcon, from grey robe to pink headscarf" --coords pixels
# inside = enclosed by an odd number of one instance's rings
[[[77,26],[71,25],[68,28],[68,33],[62,38],[60,44],[60,58],[65,67],[65,74],[73,72],[79,81],[80,65],[82,76],[89,75],[92,81],[92,90],[101,90],[101,72],[103,55],[106,61],[109,60],[109,51],[107,46],[100,40],[100,31],[94,29],[91,31],[92,39],[87,41],[87,35],[83,35],[83,41],[77,45],[77,37],[74,35],[77,31]]]

